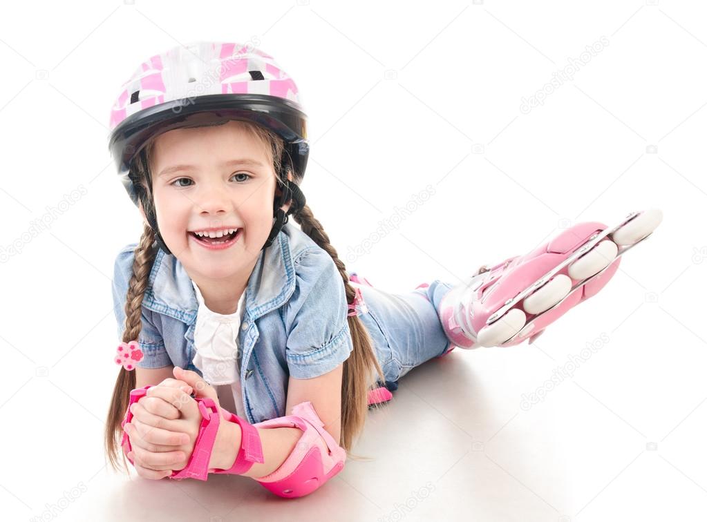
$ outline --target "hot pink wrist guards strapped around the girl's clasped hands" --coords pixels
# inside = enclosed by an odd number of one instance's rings
[[[147,389],[150,387],[151,386],[136,388],[130,392],[130,402],[121,427],[124,427],[126,422],[132,420],[130,405],[144,397]],[[257,429],[255,429],[253,425],[248,424],[248,422],[238,417],[238,415],[234,415],[223,408],[220,408],[221,412],[218,412],[216,410],[216,403],[210,398],[198,398],[197,403],[199,405],[199,411],[201,412],[201,425],[199,426],[197,440],[194,442],[194,451],[192,451],[192,456],[189,457],[189,462],[186,467],[173,472],[172,475],[170,475],[171,479],[182,480],[183,478],[195,478],[197,480],[206,480],[209,472],[240,475],[249,470],[254,462],[264,462],[260,437]],[[240,449],[233,465],[228,468],[228,470],[221,470],[219,468],[209,470],[209,460],[211,459],[211,451],[214,449],[214,441],[216,441],[216,432],[218,432],[218,423],[221,420],[221,413],[223,413],[227,420],[235,422],[240,426]],[[123,432],[121,445],[125,444],[127,444],[127,450],[131,451],[130,439],[127,433]],[[128,460],[132,465],[135,465],[132,459],[128,458]]]

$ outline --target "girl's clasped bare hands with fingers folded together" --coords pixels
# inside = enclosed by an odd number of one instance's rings
[[[168,477],[189,462],[199,434],[201,412],[187,392],[195,389],[197,397],[212,398],[221,412],[216,390],[199,374],[179,367],[175,367],[174,374],[183,380],[165,379],[148,388],[146,396],[131,406],[132,422],[125,425],[133,445],[128,456],[141,477]]]

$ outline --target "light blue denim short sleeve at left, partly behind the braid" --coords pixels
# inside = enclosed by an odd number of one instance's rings
[[[125,300],[127,298],[128,283],[132,276],[132,265],[136,243],[124,247],[115,258],[113,267],[113,312],[117,321],[119,343],[125,328]],[[136,364],[141,368],[162,368],[172,364],[172,360],[165,350],[162,333],[156,328],[153,321],[153,312],[142,307],[142,328],[138,336],[138,344],[144,357]]]

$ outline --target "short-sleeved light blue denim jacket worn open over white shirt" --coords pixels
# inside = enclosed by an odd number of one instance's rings
[[[134,249],[115,259],[113,309],[122,339]],[[288,377],[311,379],[348,359],[353,343],[344,282],[329,254],[293,223],[260,251],[245,290],[239,331],[240,386],[251,424],[285,415]],[[158,250],[142,302],[137,365],[170,364],[201,374],[192,364],[199,303],[175,256]],[[235,341],[235,340],[234,340]]]

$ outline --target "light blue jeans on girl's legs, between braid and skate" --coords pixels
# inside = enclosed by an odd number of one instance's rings
[[[361,289],[368,307],[368,312],[358,307],[358,318],[373,339],[387,388],[396,389],[404,374],[451,348],[438,314],[442,298],[452,287],[450,283],[433,280],[427,287],[402,294],[364,284],[354,287]]]

